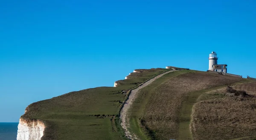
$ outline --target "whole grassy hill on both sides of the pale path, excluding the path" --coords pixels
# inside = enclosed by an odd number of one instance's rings
[[[119,112],[130,90],[169,69],[136,70],[117,87],[70,92],[27,107],[22,118],[44,121],[43,140],[122,140]],[[227,96],[227,86],[248,96]],[[252,140],[256,81],[195,70],[167,73],[140,90],[129,130],[142,140]]]

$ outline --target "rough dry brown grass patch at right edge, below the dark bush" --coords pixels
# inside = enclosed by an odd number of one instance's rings
[[[256,82],[232,87],[244,90],[250,96],[215,99],[210,96],[209,100],[195,104],[191,123],[195,140],[227,140],[256,135]],[[225,95],[226,92],[221,89],[208,94]]]

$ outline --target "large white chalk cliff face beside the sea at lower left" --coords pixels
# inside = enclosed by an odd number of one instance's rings
[[[41,140],[44,135],[44,123],[40,120],[25,120],[20,118],[17,140]]]

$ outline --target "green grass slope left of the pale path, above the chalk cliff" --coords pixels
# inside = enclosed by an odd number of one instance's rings
[[[25,120],[42,120],[46,129],[42,140],[122,140],[119,110],[128,91],[168,69],[137,70],[117,87],[97,87],[70,92],[30,104]]]

